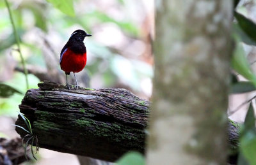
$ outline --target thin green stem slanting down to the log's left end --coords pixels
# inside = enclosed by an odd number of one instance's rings
[[[13,21],[13,17],[12,17],[12,11],[10,10],[10,6],[7,2],[7,0],[4,0],[5,4],[6,4],[6,7],[8,9],[8,13],[9,13],[9,16],[10,16],[10,20],[12,22],[12,28],[13,28],[13,33],[14,33],[14,36],[15,36],[15,39],[16,39],[16,42],[17,42],[17,51],[19,52],[20,54],[20,59],[21,59],[21,63],[22,63],[22,66],[24,68],[24,73],[25,73],[25,79],[26,79],[26,88],[29,89],[29,85],[28,85],[28,71],[26,69],[26,64],[25,64],[25,61],[24,61],[24,58],[22,56],[22,53],[20,51],[20,41],[19,41],[19,36],[17,34],[17,31],[16,31],[16,28],[15,28],[15,24],[14,24],[14,21]]]

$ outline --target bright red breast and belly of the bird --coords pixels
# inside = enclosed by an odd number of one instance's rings
[[[84,54],[76,54],[67,48],[64,50],[60,59],[60,67],[66,73],[77,73],[84,69],[86,65],[86,52]]]

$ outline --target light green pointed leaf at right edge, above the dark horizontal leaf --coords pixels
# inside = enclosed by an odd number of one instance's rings
[[[231,66],[237,71],[240,75],[244,76],[244,78],[250,80],[254,85],[256,85],[256,76],[252,73],[248,61],[245,57],[244,49],[241,43],[239,43],[237,37],[235,36],[236,48],[234,50]]]

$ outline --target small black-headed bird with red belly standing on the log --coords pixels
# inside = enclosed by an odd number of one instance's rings
[[[86,47],[83,41],[85,37],[89,36],[92,35],[81,29],[74,31],[60,52],[60,68],[65,71],[67,82],[66,86],[69,90],[70,87],[67,75],[70,75],[70,72],[73,72],[76,80],[75,73],[82,71],[86,65]],[[76,89],[78,89],[77,80]]]

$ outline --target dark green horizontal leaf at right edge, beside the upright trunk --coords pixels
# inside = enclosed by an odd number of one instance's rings
[[[232,84],[230,93],[241,94],[245,92],[252,92],[253,90],[256,90],[256,87],[252,82],[237,82]]]

